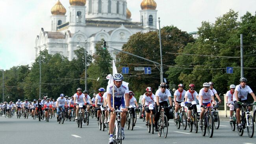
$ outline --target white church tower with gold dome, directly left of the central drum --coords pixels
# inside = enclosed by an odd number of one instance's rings
[[[69,0],[69,25],[85,25],[86,0]]]

